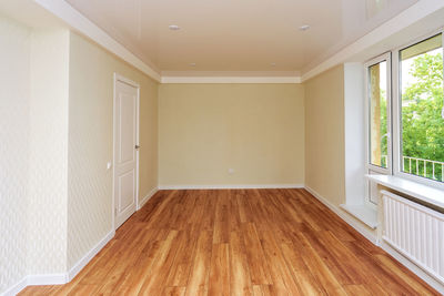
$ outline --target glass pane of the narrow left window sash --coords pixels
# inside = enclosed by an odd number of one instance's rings
[[[387,78],[386,61],[369,67],[370,163],[387,167]]]

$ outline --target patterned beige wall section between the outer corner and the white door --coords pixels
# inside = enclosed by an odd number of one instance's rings
[[[68,268],[112,228],[113,59],[70,39]]]

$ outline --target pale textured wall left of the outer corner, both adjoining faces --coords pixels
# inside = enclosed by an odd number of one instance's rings
[[[69,31],[0,18],[0,294],[67,271]]]

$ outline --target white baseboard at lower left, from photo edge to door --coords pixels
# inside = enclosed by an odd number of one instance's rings
[[[114,237],[115,231],[109,232],[93,248],[91,248],[68,273],[28,275],[16,285],[8,288],[2,296],[13,296],[27,286],[63,285],[71,282],[77,274]]]

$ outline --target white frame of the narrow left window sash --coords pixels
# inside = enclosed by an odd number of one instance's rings
[[[377,166],[371,163],[370,157],[370,111],[371,111],[371,98],[370,98],[370,75],[369,69],[374,64],[386,62],[386,85],[387,85],[387,167]],[[390,175],[392,174],[392,62],[391,52],[381,54],[364,64],[365,69],[365,170],[377,172],[380,174]]]

